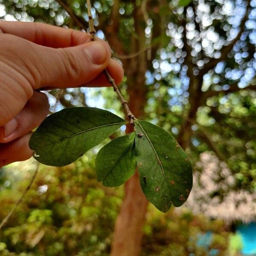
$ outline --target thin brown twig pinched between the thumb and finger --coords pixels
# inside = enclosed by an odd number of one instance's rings
[[[94,29],[94,25],[93,25],[93,15],[92,15],[92,12],[91,12],[91,3],[90,3],[90,0],[87,0],[87,10],[88,10],[88,18],[89,18],[89,33],[91,34],[92,36],[92,41],[95,40],[95,33],[96,33],[96,30]],[[134,120],[136,119],[134,114],[131,113],[131,110],[129,109],[128,107],[128,102],[124,99],[124,97],[122,96],[122,94],[120,93],[118,87],[116,86],[116,83],[114,81],[114,79],[111,77],[111,75],[108,73],[108,71],[105,69],[104,70],[104,73],[109,81],[109,83],[112,85],[114,91],[116,92],[121,104],[124,106],[125,108],[125,111],[127,113],[127,116],[130,120],[130,124],[132,126],[134,126]]]

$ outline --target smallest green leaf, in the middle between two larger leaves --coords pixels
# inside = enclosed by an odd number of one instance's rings
[[[96,175],[104,186],[120,186],[134,174],[134,139],[134,132],[118,137],[99,151],[96,157]]]

